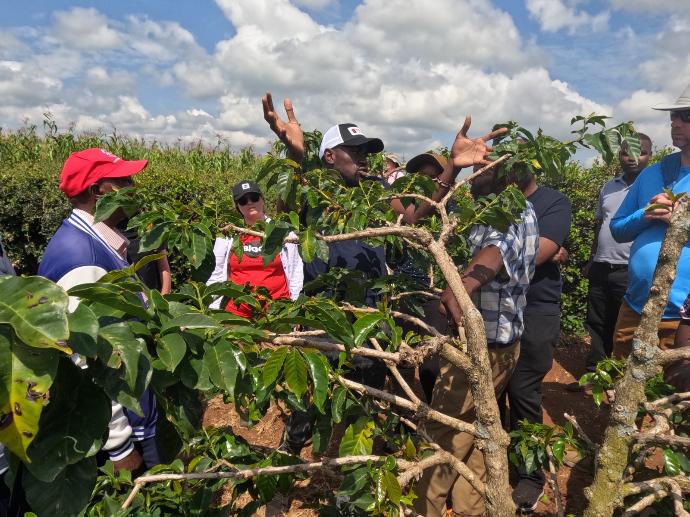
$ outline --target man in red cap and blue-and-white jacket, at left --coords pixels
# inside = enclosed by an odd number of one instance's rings
[[[147,164],[146,160],[127,161],[97,148],[72,153],[67,158],[60,173],[60,190],[73,209],[50,239],[39,275],[67,290],[129,266],[128,241],[116,228],[125,217],[124,212],[118,209],[99,223],[94,222],[94,212],[101,196],[132,186],[132,176]],[[77,298],[70,297],[69,310],[74,311],[78,304]],[[143,462],[149,468],[160,463],[155,441],[158,413],[150,390],[145,391],[140,403],[143,418],[112,402],[112,419],[103,450],[116,469],[136,470],[142,465],[135,442],[140,443]]]

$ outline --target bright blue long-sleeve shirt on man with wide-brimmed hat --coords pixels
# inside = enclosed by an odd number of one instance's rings
[[[644,209],[650,199],[663,192],[664,188],[670,188],[674,194],[690,192],[690,167],[680,166],[680,153],[669,155],[640,173],[609,225],[614,239],[633,243],[630,248],[625,301],[638,314],[642,312],[649,297],[661,242],[668,227],[662,221],[646,221]],[[679,311],[688,293],[690,243],[685,243],[663,319],[680,318]]]

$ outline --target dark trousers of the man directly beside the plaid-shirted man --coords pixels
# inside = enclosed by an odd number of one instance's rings
[[[520,357],[506,388],[511,430],[517,429],[520,420],[526,419],[539,424],[543,422],[542,381],[551,370],[553,347],[558,344],[561,333],[561,316],[558,312],[537,314],[531,312],[528,306],[524,313],[524,323],[525,330],[520,338]],[[541,470],[529,476],[521,471],[520,477],[544,483]]]

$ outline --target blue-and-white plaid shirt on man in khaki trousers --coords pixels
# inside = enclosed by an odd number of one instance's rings
[[[469,244],[473,256],[487,246],[496,246],[503,257],[503,269],[472,295],[472,301],[484,318],[489,345],[509,345],[522,335],[525,295],[534,275],[539,247],[539,227],[532,204],[527,202],[520,220],[511,224],[506,233],[490,226],[473,226]]]

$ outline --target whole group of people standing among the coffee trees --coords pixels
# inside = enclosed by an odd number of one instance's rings
[[[262,101],[264,118],[286,145],[288,157],[301,163],[304,138],[292,103],[285,101],[287,120],[284,120],[275,110],[270,93]],[[634,160],[623,149],[621,176],[602,189],[596,239],[585,271],[590,279],[587,327],[592,336],[587,369],[594,368],[598,360],[612,353],[624,357],[630,352],[632,334],[648,296],[659,247],[673,208],[673,200],[664,194],[664,189],[676,193],[690,191],[690,87],[675,104],[657,109],[670,112],[673,143],[681,152],[644,168],[651,155],[651,141],[640,135],[642,153],[639,160]],[[321,142],[319,158],[324,167],[336,170],[349,187],[356,187],[363,181],[378,181],[387,186],[389,181],[404,173],[425,174],[436,184],[432,199],[439,201],[463,168],[480,168],[490,163],[488,156],[492,148],[488,142],[504,132],[499,129],[472,139],[467,135],[470,123],[468,117],[452,143],[448,158],[422,153],[409,160],[403,169],[397,156],[386,155],[389,166],[385,178],[369,175],[367,159],[369,154],[383,151],[383,142],[366,137],[354,124],[338,124],[328,129]],[[116,211],[99,223],[94,222],[93,214],[102,195],[132,185],[132,176],[146,165],[144,160],[122,160],[101,149],[88,149],[68,158],[61,173],[60,189],[68,197],[73,211],[51,239],[41,261],[40,275],[67,289],[97,281],[108,271],[129,264],[128,240],[118,230],[124,214]],[[472,258],[462,270],[462,282],[484,319],[494,387],[506,409],[505,425],[514,429],[522,419],[542,421],[541,386],[551,368],[553,347],[560,336],[562,281],[559,264],[567,260],[565,245],[572,207],[563,194],[540,186],[532,174],[519,167],[486,170],[472,180],[471,193],[479,198],[498,194],[509,185],[516,185],[522,191],[527,199],[526,207],[506,231],[489,225],[475,225],[471,229],[468,243]],[[235,185],[233,199],[247,226],[269,220],[261,189],[253,181],[245,180]],[[433,211],[427,202],[404,206],[399,199],[394,199],[390,203],[407,224],[415,224]],[[650,203],[653,207],[647,210]],[[232,253],[233,239],[241,241],[241,258]],[[246,234],[217,239],[214,254],[216,267],[209,283],[226,280],[241,285],[248,283],[266,288],[274,299],[296,299],[305,283],[332,268],[358,271],[364,280],[381,278],[389,271],[384,248],[361,240],[330,243],[327,261],[316,258],[308,264],[302,262],[298,246],[290,243],[286,243],[270,263],[264,264],[261,239]],[[687,345],[690,302],[686,302],[686,298],[690,293],[690,268],[685,268],[684,264],[688,261],[690,251],[686,245],[664,321],[659,327],[662,347]],[[169,266],[167,270],[165,264],[160,266],[160,280],[165,289],[169,289]],[[402,260],[398,266],[395,272],[405,274],[409,264]],[[0,246],[0,274],[12,273],[11,264]],[[359,300],[372,307],[378,301],[379,295],[372,289],[365,290]],[[684,302],[686,309],[681,311]],[[70,310],[78,303],[71,299]],[[216,304],[219,307],[220,301]],[[239,316],[252,317],[252,309],[246,304],[227,300],[223,308]],[[446,320],[456,326],[463,320],[460,307],[449,290],[441,296],[440,304],[427,304],[425,311],[427,323],[442,332],[448,332]],[[678,330],[682,318],[688,319],[683,319]],[[75,362],[79,364],[79,358],[75,358]],[[474,420],[473,401],[463,372],[443,362],[426,365],[422,370],[420,378],[423,384],[426,379],[425,393],[434,409],[463,420]],[[348,376],[380,388],[385,380],[385,366],[379,361],[358,358]],[[680,363],[669,369],[667,378],[687,390],[687,364]],[[116,468],[137,470],[159,461],[155,443],[155,398],[148,392],[142,398],[142,409],[144,416],[140,417],[113,402],[104,451]],[[311,438],[314,417],[309,411],[293,412],[281,449],[299,454]],[[475,475],[484,476],[483,456],[474,446],[471,435],[435,422],[427,423],[427,432],[439,445],[464,461]],[[543,485],[541,472],[519,472],[513,493],[518,507],[523,511],[535,509]],[[426,470],[416,492],[415,510],[421,515],[445,515],[449,501],[454,515],[483,515],[486,511],[480,495],[446,466]]]

